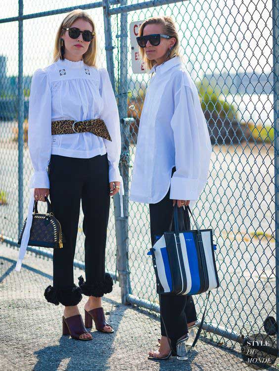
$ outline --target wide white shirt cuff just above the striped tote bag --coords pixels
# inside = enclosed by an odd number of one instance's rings
[[[171,178],[171,200],[197,200],[205,185],[199,179],[188,179],[181,177]]]

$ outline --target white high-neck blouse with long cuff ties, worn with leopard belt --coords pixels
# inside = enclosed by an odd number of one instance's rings
[[[51,122],[70,119],[103,119],[112,141],[93,133],[51,135]],[[35,71],[30,90],[28,146],[34,174],[30,181],[27,223],[22,237],[16,270],[20,271],[30,236],[34,204],[33,188],[49,188],[47,167],[51,154],[91,158],[107,153],[109,182],[121,182],[120,201],[123,216],[123,181],[119,172],[121,135],[117,103],[105,68],[88,66],[83,60],[58,60]]]

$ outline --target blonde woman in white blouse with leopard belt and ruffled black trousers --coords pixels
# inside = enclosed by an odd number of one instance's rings
[[[88,296],[85,315],[96,329],[113,332],[105,322],[101,296],[111,292],[113,281],[105,273],[106,231],[110,197],[122,178],[118,164],[121,151],[119,115],[108,72],[98,69],[96,34],[92,18],[81,9],[62,21],[55,42],[54,63],[34,73],[29,103],[28,145],[35,173],[31,179],[34,195],[30,200],[28,222],[32,223],[34,198],[50,196],[51,209],[62,227],[63,248],[53,251],[53,286],[45,290],[48,302],[65,306],[63,333],[79,340],[91,340],[77,304]],[[92,132],[76,133],[79,121],[104,120],[112,141]],[[51,135],[51,122],[75,120],[75,133]],[[80,202],[84,213],[85,276],[74,284],[73,260],[76,247]],[[28,224],[28,223],[27,223]],[[29,228],[30,231],[30,228]],[[29,238],[16,270],[20,270]]]

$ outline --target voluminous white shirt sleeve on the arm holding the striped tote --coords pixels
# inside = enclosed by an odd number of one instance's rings
[[[170,198],[197,200],[207,182],[212,146],[196,88],[184,84],[175,94],[171,120],[175,141],[176,171]]]

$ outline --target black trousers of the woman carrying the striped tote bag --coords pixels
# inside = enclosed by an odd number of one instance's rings
[[[173,169],[173,172],[175,169]],[[166,196],[157,203],[149,204],[150,234],[153,245],[154,234],[168,231],[173,212],[173,200],[170,199],[170,189]],[[179,208],[179,213],[182,213]],[[181,218],[180,218],[181,219]],[[174,227],[174,226],[173,226]],[[191,295],[160,295],[161,334],[167,336],[162,321],[167,328],[172,347],[176,349],[177,340],[188,332],[187,323],[196,321],[196,310]]]

